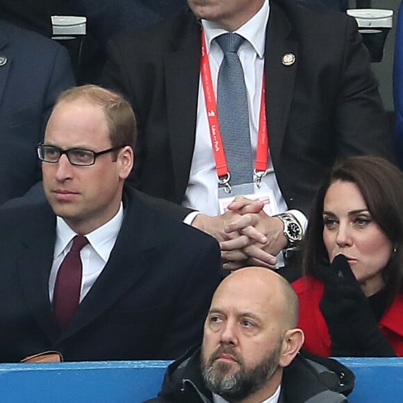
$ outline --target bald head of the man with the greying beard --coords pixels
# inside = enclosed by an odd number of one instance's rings
[[[213,295],[201,362],[206,386],[227,400],[262,401],[304,342],[290,284],[272,270],[229,274]]]

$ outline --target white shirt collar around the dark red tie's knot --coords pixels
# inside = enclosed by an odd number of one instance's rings
[[[122,222],[123,204],[121,201],[119,211],[117,211],[117,214],[113,218],[111,218],[104,225],[101,225],[101,227],[94,229],[94,231],[85,235],[94,251],[97,252],[105,263],[108,261],[110,255],[107,244],[110,242],[112,242],[112,244],[115,243],[117,234],[120,231],[120,227],[122,227]],[[67,225],[67,222],[65,222],[62,217],[56,217],[56,245],[54,250],[54,258],[63,253],[76,235],[77,234]],[[110,249],[112,249],[112,247],[110,247]]]

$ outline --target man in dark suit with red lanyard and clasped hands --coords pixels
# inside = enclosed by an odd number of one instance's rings
[[[273,267],[272,255],[300,238],[292,230],[303,231],[322,174],[336,158],[391,155],[368,51],[354,19],[342,13],[309,10],[290,0],[188,0],[188,5],[162,24],[120,35],[108,46],[104,83],[126,95],[138,118],[131,180],[150,195],[204,213],[189,216],[183,207],[179,216],[220,241],[225,268]],[[265,104],[270,155],[263,183],[274,192],[277,213],[285,216],[265,214],[263,204],[249,197],[231,204],[227,213],[217,208],[201,38],[215,90],[224,58],[215,39],[229,32],[245,38],[238,56],[247,84],[252,157]]]

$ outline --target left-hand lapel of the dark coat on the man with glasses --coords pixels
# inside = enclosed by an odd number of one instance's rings
[[[58,332],[49,301],[49,273],[55,239],[56,218],[47,206],[47,211],[40,215],[40,220],[33,217],[23,234],[22,253],[17,260],[17,270],[28,306],[40,328],[52,342]]]

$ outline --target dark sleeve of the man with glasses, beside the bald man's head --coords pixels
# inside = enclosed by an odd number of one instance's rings
[[[173,320],[167,329],[165,341],[158,352],[158,356],[163,359],[176,359],[192,345],[201,343],[211,297],[222,275],[220,247],[213,238],[205,237],[207,242],[200,242],[198,248],[192,248],[198,253],[191,257],[187,254],[188,262],[183,262],[187,276],[172,313]]]

